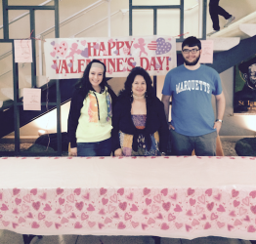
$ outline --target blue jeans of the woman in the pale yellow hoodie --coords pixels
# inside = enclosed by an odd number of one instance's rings
[[[78,142],[77,156],[110,156],[111,138],[102,142]]]

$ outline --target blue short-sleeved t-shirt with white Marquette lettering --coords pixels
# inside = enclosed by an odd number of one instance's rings
[[[215,131],[213,95],[222,93],[221,79],[216,70],[200,64],[196,70],[183,65],[170,70],[162,94],[172,96],[172,125],[185,136],[202,136]]]

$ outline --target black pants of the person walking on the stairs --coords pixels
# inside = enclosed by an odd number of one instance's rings
[[[209,12],[212,19],[212,27],[214,30],[220,29],[219,16],[223,16],[226,20],[230,19],[232,15],[226,12],[222,7],[219,6],[220,0],[210,0]]]

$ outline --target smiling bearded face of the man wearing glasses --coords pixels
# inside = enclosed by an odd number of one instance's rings
[[[197,46],[185,46],[182,51],[184,62],[186,65],[193,66],[197,64],[200,59],[201,50]]]

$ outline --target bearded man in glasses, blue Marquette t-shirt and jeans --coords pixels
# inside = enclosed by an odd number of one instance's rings
[[[191,36],[182,44],[184,64],[170,70],[162,89],[166,118],[172,97],[169,129],[175,155],[216,155],[216,137],[220,132],[225,110],[221,79],[211,67],[200,64],[201,42]],[[211,103],[216,99],[216,115]]]

